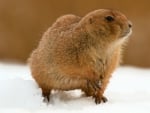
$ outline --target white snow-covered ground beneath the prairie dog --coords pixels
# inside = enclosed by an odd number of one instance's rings
[[[150,113],[150,69],[118,68],[96,105],[80,90],[54,92],[43,102],[28,66],[0,63],[0,113]]]

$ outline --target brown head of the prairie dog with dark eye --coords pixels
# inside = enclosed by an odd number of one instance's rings
[[[116,10],[95,10],[88,13],[80,22],[90,36],[104,42],[124,40],[132,32],[131,22]]]

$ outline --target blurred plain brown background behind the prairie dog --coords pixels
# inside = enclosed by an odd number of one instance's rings
[[[149,0],[0,0],[0,61],[26,63],[42,34],[61,15],[112,8],[133,23],[123,63],[150,67]]]

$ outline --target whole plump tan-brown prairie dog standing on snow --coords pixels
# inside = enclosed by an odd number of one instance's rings
[[[51,90],[81,89],[95,102],[119,65],[132,24],[116,10],[98,9],[79,17],[64,15],[44,33],[29,59],[32,76],[49,100]]]

